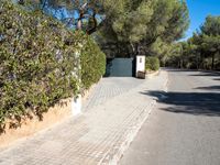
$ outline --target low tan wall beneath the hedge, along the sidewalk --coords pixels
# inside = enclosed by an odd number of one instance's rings
[[[21,128],[9,129],[6,128],[6,133],[0,135],[0,147],[6,147],[16,140],[25,139],[34,133],[48,129],[55,123],[63,121],[70,117],[72,112],[72,99],[66,99],[50,108],[50,110],[43,114],[43,120],[34,117],[32,120],[23,120]]]

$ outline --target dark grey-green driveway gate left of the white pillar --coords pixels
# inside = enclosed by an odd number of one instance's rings
[[[134,58],[108,58],[106,77],[134,77]]]

